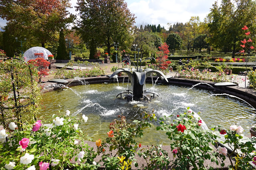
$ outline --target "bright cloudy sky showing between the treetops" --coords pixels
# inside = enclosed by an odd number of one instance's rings
[[[209,14],[215,1],[220,0],[125,0],[131,13],[135,14],[136,26],[153,24],[168,28],[167,24],[188,22],[191,16],[199,16],[200,20]],[[73,8],[69,12],[76,14],[74,6],[77,0],[70,0]],[[6,26],[6,21],[0,18],[0,26]]]

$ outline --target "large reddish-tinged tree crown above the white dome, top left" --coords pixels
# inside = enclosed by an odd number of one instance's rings
[[[33,36],[44,47],[53,35],[73,21],[69,0],[1,0],[0,16],[15,24],[20,34]],[[17,35],[21,36],[21,35]]]

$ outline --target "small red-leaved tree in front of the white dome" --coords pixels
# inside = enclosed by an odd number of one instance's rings
[[[40,54],[40,53],[39,53]],[[50,62],[44,58],[38,57],[36,59],[28,60],[28,63],[33,64],[38,69],[39,82],[41,82],[42,76],[49,75],[47,67],[50,65]]]

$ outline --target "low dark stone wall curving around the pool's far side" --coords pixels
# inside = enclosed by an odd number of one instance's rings
[[[153,81],[155,81],[157,77],[153,77]],[[105,83],[105,82],[114,82],[114,79],[107,76],[100,76],[100,77],[85,77],[85,78],[80,78],[79,80],[76,79],[66,79],[68,83],[64,83],[63,85],[65,86],[75,86],[75,85],[83,85],[85,81],[88,83]],[[123,76],[118,77],[119,82],[123,81]],[[128,81],[128,77],[125,77],[125,82]],[[212,81],[202,81],[202,80],[196,80],[196,79],[183,79],[183,78],[169,78],[168,83],[165,80],[158,79],[157,82],[161,82],[163,84],[173,84],[173,85],[181,85],[181,86],[188,86],[192,87],[193,85],[196,85],[198,83],[208,83],[212,87],[206,84],[200,84],[197,85],[196,88],[200,89],[207,89],[210,91],[215,91],[216,93],[227,93],[229,95],[234,95],[236,97],[239,97],[248,103],[250,105],[255,106],[256,105],[256,91],[253,89],[245,89],[239,86],[215,86],[216,82]],[[147,77],[146,82],[152,82],[151,77]],[[43,92],[48,92],[56,89],[60,89],[61,85],[58,85],[61,83],[42,83],[40,84],[41,86],[44,87]],[[64,86],[63,86],[64,87]]]

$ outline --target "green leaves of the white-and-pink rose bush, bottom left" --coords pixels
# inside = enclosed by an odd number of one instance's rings
[[[39,162],[54,162],[52,159],[58,159],[59,162],[56,166],[51,166],[52,169],[67,169],[75,168],[82,169],[97,169],[93,165],[93,159],[96,157],[96,152],[93,148],[88,146],[84,140],[88,140],[88,136],[83,134],[81,128],[74,128],[74,125],[81,124],[81,117],[68,117],[60,116],[63,119],[61,124],[48,124],[41,126],[38,131],[32,131],[32,124],[23,124],[23,130],[14,130],[10,132],[11,137],[8,144],[0,144],[0,167],[4,167],[9,162],[15,162],[15,169],[26,169],[32,165],[38,167]],[[52,119],[58,119],[53,115]],[[52,123],[52,122],[51,122]],[[19,141],[22,138],[28,138],[29,144],[25,151],[20,151]],[[74,143],[77,141],[78,143]],[[18,148],[18,149],[17,149]],[[81,163],[74,163],[78,160],[79,152],[84,152]],[[29,164],[22,164],[20,159],[25,154],[34,155],[34,159]]]

